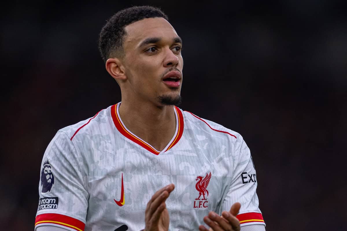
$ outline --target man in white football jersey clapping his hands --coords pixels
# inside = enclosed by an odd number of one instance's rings
[[[99,48],[122,101],[54,136],[36,230],[265,230],[242,136],[175,106],[182,41],[167,16],[119,11]]]

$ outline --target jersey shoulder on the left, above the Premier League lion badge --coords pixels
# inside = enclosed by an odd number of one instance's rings
[[[105,127],[109,126],[110,121],[112,121],[111,108],[113,106],[114,105],[102,109],[94,116],[76,124],[61,128],[58,133],[65,133],[71,141],[73,139],[79,139],[79,137],[86,136],[88,134],[98,134],[99,132],[103,131]]]

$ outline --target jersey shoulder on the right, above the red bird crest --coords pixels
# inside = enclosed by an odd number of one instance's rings
[[[185,127],[191,129],[194,133],[204,133],[217,139],[228,139],[233,143],[243,141],[243,137],[239,133],[223,125],[201,118],[191,112],[181,111],[184,117]]]

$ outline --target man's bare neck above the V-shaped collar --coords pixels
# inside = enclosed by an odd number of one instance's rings
[[[122,100],[119,116],[128,130],[158,151],[167,146],[176,131],[175,112],[171,105]]]

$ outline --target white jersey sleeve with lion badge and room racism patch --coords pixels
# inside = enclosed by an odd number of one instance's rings
[[[35,230],[45,225],[84,230],[88,193],[81,162],[69,137],[58,131],[41,163]]]

